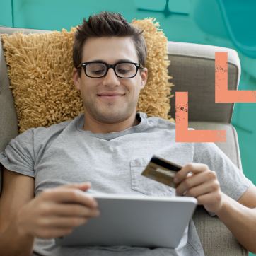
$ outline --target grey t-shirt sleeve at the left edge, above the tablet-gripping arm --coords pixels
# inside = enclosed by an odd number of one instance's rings
[[[8,170],[35,177],[33,129],[28,129],[10,141],[4,152],[0,153],[0,163]]]

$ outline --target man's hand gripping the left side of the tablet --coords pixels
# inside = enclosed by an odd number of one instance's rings
[[[76,226],[99,216],[98,204],[84,193],[89,183],[47,189],[25,204],[16,217],[19,233],[50,239],[68,235]]]

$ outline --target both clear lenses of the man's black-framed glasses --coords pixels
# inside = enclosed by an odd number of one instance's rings
[[[89,63],[86,65],[86,74],[91,77],[104,76],[107,72],[107,65],[103,63]],[[136,74],[136,66],[132,63],[120,63],[115,66],[117,76],[129,78]]]

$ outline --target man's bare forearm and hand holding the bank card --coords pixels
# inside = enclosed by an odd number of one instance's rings
[[[192,175],[189,173],[192,172]],[[196,197],[198,204],[217,214],[238,242],[256,253],[256,187],[250,185],[238,202],[221,192],[216,173],[202,163],[189,163],[176,175],[179,196]]]

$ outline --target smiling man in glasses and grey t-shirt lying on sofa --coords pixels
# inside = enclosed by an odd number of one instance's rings
[[[192,221],[175,250],[57,247],[53,238],[100,214],[95,199],[83,193],[88,189],[196,197],[256,252],[256,188],[250,180],[215,144],[175,143],[175,124],[136,113],[145,63],[141,31],[120,14],[83,21],[75,35],[73,78],[84,114],[29,129],[0,154],[0,255],[204,255]],[[154,153],[185,166],[175,177],[176,191],[153,180],[145,185],[141,172]]]

